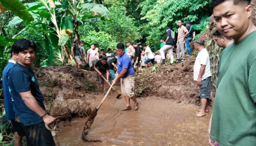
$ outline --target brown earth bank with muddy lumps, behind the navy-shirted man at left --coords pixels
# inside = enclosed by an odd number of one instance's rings
[[[85,117],[91,108],[87,99],[99,91],[95,72],[71,66],[50,66],[34,70],[44,95],[48,113],[57,120],[69,121],[76,115]]]

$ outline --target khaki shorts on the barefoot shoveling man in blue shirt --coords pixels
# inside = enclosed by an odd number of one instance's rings
[[[128,98],[133,97],[134,95],[134,83],[135,83],[135,75],[130,75],[124,78],[121,78],[121,91],[124,96]]]

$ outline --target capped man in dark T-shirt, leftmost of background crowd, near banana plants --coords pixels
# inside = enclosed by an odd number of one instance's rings
[[[80,52],[78,49],[78,39],[77,38],[74,38],[74,41],[71,46],[71,53],[73,56],[72,58],[75,60],[75,67],[80,69],[82,62],[80,60]]]

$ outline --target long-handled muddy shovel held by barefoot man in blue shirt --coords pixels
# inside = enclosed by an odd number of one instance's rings
[[[83,128],[83,134],[82,134],[82,138],[84,141],[86,142],[90,142],[90,140],[86,139],[86,135],[88,134],[88,130],[90,128],[90,126],[93,124],[94,118],[97,115],[97,112],[99,110],[99,108],[101,107],[103,101],[106,99],[106,97],[108,96],[111,88],[113,87],[114,82],[112,83],[112,85],[110,86],[108,92],[106,93],[106,95],[104,96],[104,98],[102,99],[101,103],[99,104],[99,106],[93,109],[93,111],[91,111],[91,114],[89,116],[89,118],[86,120],[85,124],[84,124],[84,128]]]

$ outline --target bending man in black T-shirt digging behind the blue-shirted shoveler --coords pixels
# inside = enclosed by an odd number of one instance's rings
[[[101,84],[102,95],[105,95],[105,93],[104,93],[104,79],[101,77],[101,75],[104,78],[106,78],[107,83],[108,83],[109,82],[109,68],[110,68],[110,65],[108,64],[108,58],[103,56],[102,59],[98,59],[93,68],[99,74],[98,77],[99,77],[99,83]],[[110,95],[111,95],[111,92],[110,92]]]

